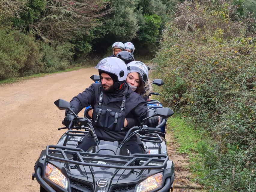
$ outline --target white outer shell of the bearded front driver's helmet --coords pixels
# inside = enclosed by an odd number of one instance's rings
[[[95,67],[99,72],[113,74],[117,77],[117,82],[123,83],[127,77],[127,66],[124,61],[117,57],[107,57],[102,59]],[[115,80],[115,79],[113,79]]]

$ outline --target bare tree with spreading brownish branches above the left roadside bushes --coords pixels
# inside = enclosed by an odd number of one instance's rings
[[[97,18],[107,14],[105,0],[50,0],[31,29],[45,41],[68,41],[99,26]]]

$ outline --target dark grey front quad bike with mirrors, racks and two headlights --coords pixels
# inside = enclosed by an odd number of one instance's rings
[[[69,102],[59,99],[54,103],[59,109],[72,112]],[[159,108],[156,115],[167,119],[173,111]],[[89,132],[95,136],[97,146],[86,152],[76,148]],[[48,145],[41,152],[32,180],[37,179],[41,192],[173,191],[174,165],[168,158],[162,134],[160,128],[148,128],[142,122],[131,128],[121,143],[98,141],[88,119],[76,115],[57,145]],[[134,135],[142,141],[146,154],[131,154],[123,146]]]

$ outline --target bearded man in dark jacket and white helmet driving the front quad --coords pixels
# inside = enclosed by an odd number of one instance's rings
[[[151,116],[154,111],[146,107],[143,98],[132,91],[125,82],[127,66],[119,58],[109,57],[102,59],[96,66],[99,71],[101,83],[93,83],[83,93],[71,100],[72,110],[78,114],[84,107],[91,105],[93,110],[92,124],[99,140],[122,142],[131,126],[128,122],[142,121]],[[66,111],[64,125],[68,126],[74,119],[74,114]],[[129,119],[127,121],[127,119]],[[158,125],[158,117],[147,119],[144,124],[149,127]],[[134,123],[131,123],[134,125]],[[96,145],[92,135],[85,136],[78,148],[87,151]],[[125,147],[133,153],[145,153],[137,142],[137,137],[132,137]]]

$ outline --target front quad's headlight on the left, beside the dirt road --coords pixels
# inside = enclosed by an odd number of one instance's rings
[[[68,189],[68,179],[59,169],[57,169],[57,167],[50,163],[47,163],[45,166],[45,176],[59,186]]]

